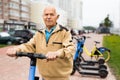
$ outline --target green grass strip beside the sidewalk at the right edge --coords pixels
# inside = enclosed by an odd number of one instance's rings
[[[111,58],[108,65],[111,67],[117,80],[120,80],[120,36],[104,36],[103,45],[111,50]]]

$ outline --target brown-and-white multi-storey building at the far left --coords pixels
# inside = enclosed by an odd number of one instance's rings
[[[0,0],[1,30],[29,28],[30,24],[29,0]]]

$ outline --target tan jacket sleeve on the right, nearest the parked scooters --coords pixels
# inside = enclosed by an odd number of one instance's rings
[[[58,50],[61,55],[61,58],[73,58],[75,53],[75,44],[72,41],[72,36],[69,31],[67,31],[64,35],[63,41],[62,41],[63,48]]]

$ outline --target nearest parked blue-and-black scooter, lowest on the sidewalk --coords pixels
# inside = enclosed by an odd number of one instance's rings
[[[108,75],[108,71],[106,70],[107,67],[105,65],[100,65],[99,67],[83,67],[81,65],[81,59],[80,59],[80,54],[83,52],[83,45],[84,45],[84,41],[85,41],[85,37],[83,37],[83,39],[77,39],[78,43],[77,43],[77,50],[74,56],[74,65],[73,65],[73,71],[71,73],[71,75],[73,75],[75,73],[75,71],[77,70],[80,74],[84,74],[84,75],[96,75],[96,76],[100,76],[101,78],[105,78]],[[92,62],[92,63],[96,63],[96,62]],[[89,65],[86,62],[87,65]],[[93,65],[92,65],[93,66]],[[95,72],[91,72],[91,71],[81,71],[81,69],[84,70],[96,70]]]

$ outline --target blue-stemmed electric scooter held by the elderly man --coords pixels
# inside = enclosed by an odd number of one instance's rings
[[[37,59],[46,59],[45,55],[43,55],[43,54],[37,54],[37,53],[19,52],[19,53],[16,53],[16,56],[30,58],[30,70],[29,70],[28,80],[39,80],[39,77],[35,76],[36,60]]]

